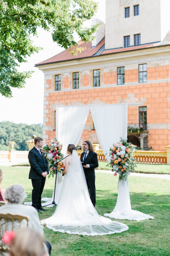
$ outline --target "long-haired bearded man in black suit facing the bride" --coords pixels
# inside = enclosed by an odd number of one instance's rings
[[[83,165],[84,174],[86,177],[87,187],[90,194],[90,199],[95,207],[96,204],[96,189],[95,189],[95,168],[99,166],[98,156],[93,150],[93,146],[89,140],[83,142],[83,151],[81,154],[81,162]]]

